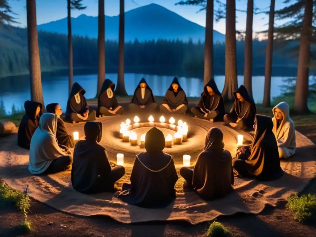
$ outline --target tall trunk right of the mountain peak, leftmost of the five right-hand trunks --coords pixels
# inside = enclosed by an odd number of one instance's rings
[[[214,0],[207,0],[205,48],[204,48],[204,86],[213,78],[213,21]]]

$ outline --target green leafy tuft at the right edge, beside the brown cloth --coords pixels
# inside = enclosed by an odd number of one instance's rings
[[[316,196],[312,194],[289,197],[287,208],[294,212],[294,220],[311,223],[316,220]]]

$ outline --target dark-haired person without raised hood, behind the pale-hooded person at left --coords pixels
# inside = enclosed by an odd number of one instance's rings
[[[63,113],[63,111],[60,108],[60,105],[58,103],[48,104],[46,105],[46,112],[54,113],[57,115],[56,138],[58,145],[63,145],[68,148],[74,148],[74,138],[70,134],[68,134],[66,127],[64,125],[64,120],[60,118],[60,115]]]

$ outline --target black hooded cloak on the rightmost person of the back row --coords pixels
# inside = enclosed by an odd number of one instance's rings
[[[243,102],[240,102],[237,99],[237,96],[236,96],[237,93],[239,93],[244,98]],[[234,97],[235,97],[234,104],[227,116],[232,122],[236,122],[236,120],[240,118],[242,119],[242,121],[244,122],[247,128],[251,128],[254,123],[257,110],[256,110],[256,105],[253,102],[253,100],[250,98],[246,87],[241,85],[238,88],[238,90],[234,92]]]

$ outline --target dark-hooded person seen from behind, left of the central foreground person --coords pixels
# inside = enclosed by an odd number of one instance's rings
[[[113,191],[114,184],[125,174],[123,166],[111,167],[106,149],[99,144],[102,123],[87,122],[84,125],[85,140],[78,141],[74,150],[71,184],[81,193],[93,194]]]

